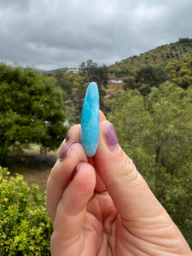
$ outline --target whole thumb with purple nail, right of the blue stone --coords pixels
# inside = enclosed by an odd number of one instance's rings
[[[114,127],[108,121],[100,124],[94,165],[119,212],[120,221],[131,234],[190,255],[181,232],[137,172],[132,160],[120,148]]]

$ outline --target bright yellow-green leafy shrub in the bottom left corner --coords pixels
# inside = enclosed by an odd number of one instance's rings
[[[45,196],[0,166],[0,255],[49,255],[51,233]]]

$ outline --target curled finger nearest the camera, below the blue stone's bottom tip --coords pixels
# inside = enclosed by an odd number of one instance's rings
[[[56,210],[54,232],[50,241],[53,255],[61,255],[63,252],[69,255],[71,248],[79,255],[83,246],[86,205],[95,186],[94,168],[88,163],[79,162]]]

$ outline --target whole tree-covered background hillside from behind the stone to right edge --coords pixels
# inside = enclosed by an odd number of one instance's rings
[[[110,84],[110,76],[120,77],[123,84]],[[56,86],[63,90],[63,102],[70,125],[80,121],[84,93],[90,81],[95,81],[100,90],[102,110],[111,109],[111,100],[123,90],[139,90],[148,95],[152,87],[166,81],[186,90],[192,84],[192,39],[180,38],[176,43],[166,44],[138,56],[119,61],[112,66],[98,67],[91,60],[83,62],[79,73],[62,69],[44,73],[53,77]]]

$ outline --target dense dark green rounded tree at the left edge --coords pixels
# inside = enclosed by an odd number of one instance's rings
[[[65,136],[61,90],[55,79],[31,68],[0,65],[0,162],[11,151],[38,143],[42,151],[59,146]]]

